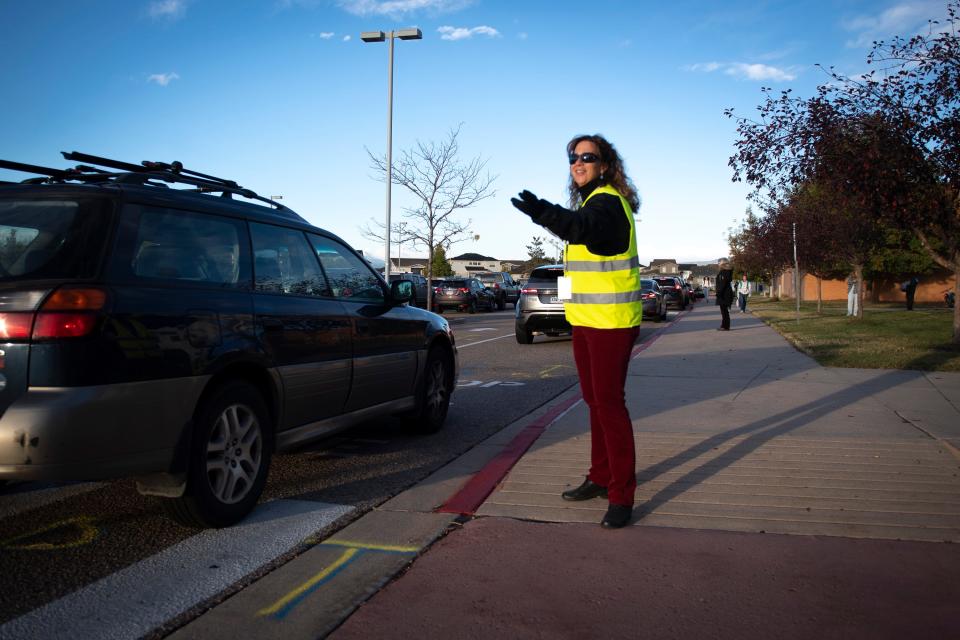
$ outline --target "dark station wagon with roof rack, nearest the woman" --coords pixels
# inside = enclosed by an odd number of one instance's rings
[[[133,476],[222,527],[275,451],[371,416],[443,425],[453,333],[409,282],[233,181],[63,155],[82,164],[0,160],[35,176],[0,183],[0,480]]]

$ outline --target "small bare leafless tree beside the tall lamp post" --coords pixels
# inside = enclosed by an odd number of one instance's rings
[[[496,176],[485,172],[486,160],[479,157],[462,162],[459,157],[457,136],[460,126],[451,129],[447,138],[440,143],[417,142],[414,149],[402,151],[393,163],[393,184],[404,187],[413,194],[416,204],[404,207],[404,217],[408,220],[402,233],[402,240],[414,247],[427,250],[428,256],[434,255],[438,246],[449,248],[455,242],[465,240],[470,231],[470,220],[461,222],[454,214],[468,209],[481,200],[492,197]],[[371,168],[380,173],[380,180],[386,180],[387,160],[384,156],[375,156],[367,150]],[[361,233],[370,239],[383,240],[385,224],[372,220],[374,227],[367,225]],[[393,226],[397,233],[398,225]],[[387,260],[390,256],[387,256]],[[433,262],[428,262],[427,280],[433,278]],[[427,308],[433,304],[433,288],[428,287]]]

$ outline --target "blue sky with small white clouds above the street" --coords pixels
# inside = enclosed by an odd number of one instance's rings
[[[816,64],[862,73],[874,39],[945,15],[929,0],[6,0],[0,158],[180,160],[382,256],[360,228],[384,218],[366,150],[386,149],[388,49],[359,34],[418,27],[395,48],[394,155],[461,126],[461,158],[496,176],[458,214],[473,233],[454,255],[525,258],[545,232],[510,197],[563,201],[566,142],[601,133],[642,198],[641,260],[714,260],[748,205],[724,109],[755,113],[763,86],[811,95]],[[409,204],[394,187],[394,222]]]

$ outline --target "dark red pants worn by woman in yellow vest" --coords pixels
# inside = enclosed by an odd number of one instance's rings
[[[637,488],[633,423],[627,412],[624,384],[633,343],[640,327],[573,328],[573,358],[580,390],[590,408],[590,474],[607,488],[610,504],[633,506]]]

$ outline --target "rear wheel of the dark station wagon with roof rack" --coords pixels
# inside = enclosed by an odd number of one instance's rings
[[[231,382],[204,399],[194,416],[187,488],[162,500],[164,511],[188,527],[228,527],[260,499],[273,452],[270,414],[260,392]]]

